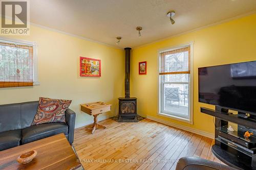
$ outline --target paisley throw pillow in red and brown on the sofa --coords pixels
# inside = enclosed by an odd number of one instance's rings
[[[69,108],[71,102],[71,100],[40,98],[32,125],[54,122],[65,123],[65,111]]]

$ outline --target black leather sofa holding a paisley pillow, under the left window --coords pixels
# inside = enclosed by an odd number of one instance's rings
[[[69,143],[73,143],[75,112],[66,110],[66,123],[31,126],[37,107],[38,101],[0,105],[0,151],[59,133],[64,133]]]

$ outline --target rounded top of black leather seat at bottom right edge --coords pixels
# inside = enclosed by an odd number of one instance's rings
[[[183,157],[179,159],[176,170],[236,170],[231,166],[213,162],[198,157]]]

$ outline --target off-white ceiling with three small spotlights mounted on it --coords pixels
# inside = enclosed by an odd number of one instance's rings
[[[134,47],[256,10],[256,0],[32,0],[31,22]],[[176,23],[166,13],[175,10]],[[136,27],[141,26],[142,37]],[[121,36],[116,45],[115,38]]]

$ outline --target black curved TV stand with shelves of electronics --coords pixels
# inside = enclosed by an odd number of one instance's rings
[[[215,144],[212,146],[212,153],[222,162],[234,168],[256,169],[256,148],[244,147],[239,143],[239,141],[246,140],[243,135],[236,136],[224,130],[227,129],[228,122],[256,129],[255,121],[248,118],[239,118],[237,114],[229,113],[228,109],[218,106],[216,106],[216,110],[201,107],[201,112],[215,116]]]

